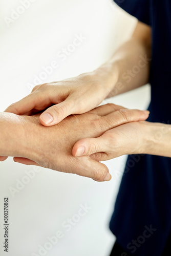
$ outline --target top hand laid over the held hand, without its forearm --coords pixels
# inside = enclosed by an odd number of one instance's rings
[[[57,124],[71,114],[86,113],[96,108],[111,91],[107,72],[96,72],[36,86],[30,95],[10,105],[5,112],[32,115],[47,109],[39,117],[45,126]]]

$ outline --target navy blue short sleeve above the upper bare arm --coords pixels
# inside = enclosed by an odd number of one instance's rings
[[[140,22],[151,25],[150,0],[114,0],[114,2]]]

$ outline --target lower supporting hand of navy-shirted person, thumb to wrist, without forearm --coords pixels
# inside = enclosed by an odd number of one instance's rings
[[[122,155],[147,154],[147,145],[153,135],[147,136],[150,124],[146,121],[130,122],[106,131],[98,138],[81,139],[73,147],[73,156],[90,156],[96,161],[105,161]]]

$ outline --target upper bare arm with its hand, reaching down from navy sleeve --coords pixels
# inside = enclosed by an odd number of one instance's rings
[[[74,78],[36,86],[30,95],[9,106],[6,112],[30,115],[47,109],[39,118],[45,126],[59,123],[71,114],[86,113],[106,97],[147,83],[150,56],[151,28],[138,22],[132,38],[104,65]]]

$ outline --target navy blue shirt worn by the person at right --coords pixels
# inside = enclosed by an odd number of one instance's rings
[[[171,123],[171,1],[115,0],[152,27],[150,122]],[[161,131],[156,134],[162,139]],[[171,141],[170,141],[171,143]],[[171,231],[171,158],[132,155],[126,162],[110,229],[125,251],[160,256]],[[169,252],[170,254],[170,252]],[[126,253],[119,256],[126,256]]]

